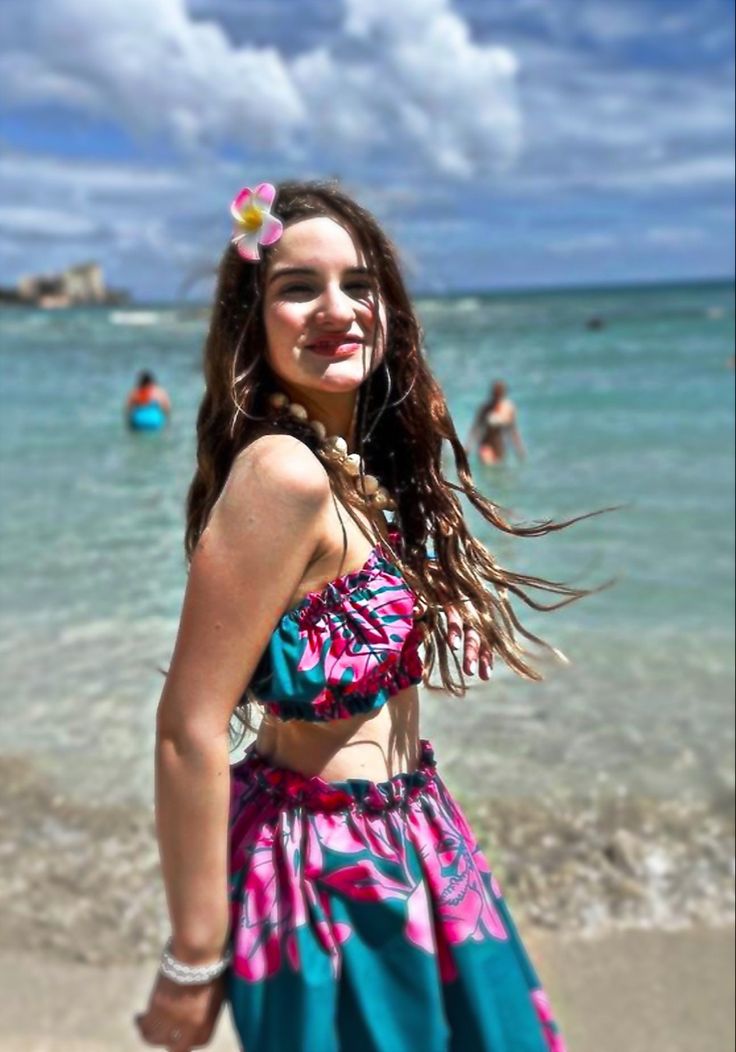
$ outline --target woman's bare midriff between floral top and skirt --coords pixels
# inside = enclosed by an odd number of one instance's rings
[[[308,723],[266,713],[255,749],[277,767],[327,782],[384,782],[418,767],[418,693],[416,687],[409,687],[380,709],[347,720]]]

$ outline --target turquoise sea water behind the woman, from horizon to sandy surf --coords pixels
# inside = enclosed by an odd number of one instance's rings
[[[733,751],[733,286],[418,307],[463,436],[494,378],[518,405],[529,458],[476,466],[484,491],[519,519],[626,506],[544,540],[473,520],[502,562],[618,583],[528,615],[572,662],[543,685],[500,670],[464,700],[425,692],[448,781],[498,797],[708,798]],[[606,325],[589,330],[594,315]],[[204,326],[186,307],[0,312],[2,752],[86,798],[150,796]],[[161,434],[123,426],[143,367],[172,397]]]

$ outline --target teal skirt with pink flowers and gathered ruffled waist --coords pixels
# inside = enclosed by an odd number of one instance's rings
[[[429,742],[409,774],[232,768],[228,995],[245,1052],[565,1052]]]

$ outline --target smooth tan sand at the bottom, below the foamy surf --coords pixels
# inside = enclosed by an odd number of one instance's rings
[[[595,938],[535,929],[522,933],[552,998],[568,1052],[734,1048],[731,928],[618,931]],[[130,1019],[144,1004],[154,967],[99,967],[3,952],[0,1047],[3,1052],[143,1048]],[[209,1047],[236,1052],[227,1018]]]

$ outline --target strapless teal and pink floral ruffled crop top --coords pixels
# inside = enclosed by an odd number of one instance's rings
[[[395,544],[397,533],[389,534]],[[416,596],[376,544],[360,570],[287,610],[248,692],[282,720],[325,722],[381,708],[422,681]]]

